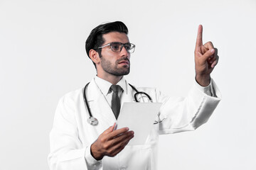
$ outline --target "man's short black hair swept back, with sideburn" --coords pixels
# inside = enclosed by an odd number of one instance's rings
[[[100,47],[105,42],[102,35],[106,33],[114,32],[114,31],[128,34],[127,26],[125,26],[124,23],[122,23],[121,21],[101,24],[100,26],[97,26],[90,32],[90,35],[85,42],[85,50],[89,58],[90,58],[89,56],[90,50],[91,49],[96,50],[97,47]],[[99,52],[99,55],[101,56],[101,49],[97,49],[97,52]],[[95,65],[94,62],[93,64]]]

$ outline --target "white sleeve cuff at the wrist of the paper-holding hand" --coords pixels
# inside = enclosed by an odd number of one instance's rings
[[[102,167],[102,160],[97,161],[92,154],[90,153],[90,146],[86,147],[85,149],[85,162],[87,164],[88,169],[100,169]]]

